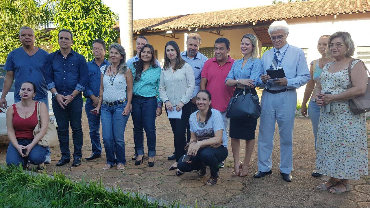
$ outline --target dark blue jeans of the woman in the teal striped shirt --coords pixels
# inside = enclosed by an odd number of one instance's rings
[[[157,98],[132,96],[132,123],[134,123],[134,143],[138,155],[144,155],[144,131],[147,135],[148,155],[155,156],[155,118]]]

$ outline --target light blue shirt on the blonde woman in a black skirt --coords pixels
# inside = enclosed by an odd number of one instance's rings
[[[234,61],[233,65],[231,66],[231,70],[229,71],[226,80],[238,80],[238,79],[253,79],[259,80],[260,76],[262,75],[263,68],[262,68],[262,61],[259,58],[248,58],[247,63],[243,66],[244,59],[239,59]],[[255,82],[256,85],[256,82]]]

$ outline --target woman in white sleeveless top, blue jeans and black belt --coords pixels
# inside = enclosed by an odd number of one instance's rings
[[[103,170],[117,166],[123,170],[126,164],[125,127],[130,115],[132,100],[132,74],[126,66],[125,49],[118,43],[109,47],[111,65],[100,68],[100,93],[98,106],[91,112],[101,110],[103,144],[107,164]]]

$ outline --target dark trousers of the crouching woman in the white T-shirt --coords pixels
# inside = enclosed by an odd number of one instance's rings
[[[216,176],[218,173],[218,163],[222,162],[228,157],[228,148],[221,145],[218,148],[206,147],[198,150],[195,156],[190,157],[191,163],[182,162],[182,156],[177,163],[177,168],[182,172],[191,172],[199,170],[203,164],[211,169],[211,175]]]

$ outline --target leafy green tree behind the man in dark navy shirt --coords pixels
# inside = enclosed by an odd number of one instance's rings
[[[113,30],[114,13],[101,0],[59,0],[55,7],[55,30],[50,31],[53,50],[59,48],[58,31],[65,28],[73,32],[73,50],[92,60],[91,42],[100,38],[109,46],[118,32]]]

